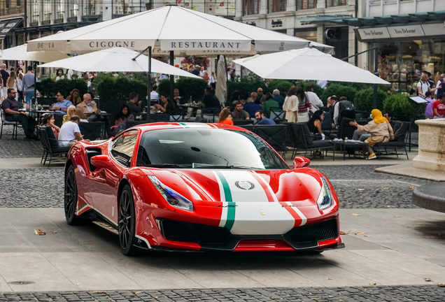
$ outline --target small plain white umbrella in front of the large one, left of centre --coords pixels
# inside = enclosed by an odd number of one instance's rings
[[[47,64],[41,64],[38,67],[55,67],[73,69],[76,71],[95,71],[95,72],[113,72],[113,71],[131,71],[131,72],[147,72],[148,57],[140,55],[135,60],[134,57],[139,52],[129,50],[127,48],[110,48],[107,50],[99,50],[90,52],[85,55],[69,57]],[[151,60],[151,71],[154,73],[165,73],[169,75],[179,75],[188,78],[199,78],[199,76],[178,69],[157,59]]]

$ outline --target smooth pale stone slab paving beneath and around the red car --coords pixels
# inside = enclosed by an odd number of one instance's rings
[[[94,224],[69,226],[62,208],[1,208],[0,292],[445,282],[445,214],[341,209],[340,227],[347,233],[341,236],[346,248],[318,255],[150,252],[125,257],[118,236]],[[46,235],[35,235],[35,229]],[[17,281],[34,283],[10,283]]]

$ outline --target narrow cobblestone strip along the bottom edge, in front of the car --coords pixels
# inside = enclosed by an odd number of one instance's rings
[[[6,293],[0,294],[0,301],[445,301],[445,288],[425,285]]]

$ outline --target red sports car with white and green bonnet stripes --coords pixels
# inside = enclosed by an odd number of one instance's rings
[[[321,252],[344,247],[339,201],[309,159],[288,164],[262,138],[225,124],[155,123],[78,142],[65,166],[68,224],[119,236],[122,252]]]

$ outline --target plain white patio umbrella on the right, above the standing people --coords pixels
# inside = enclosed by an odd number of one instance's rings
[[[316,50],[303,48],[234,60],[266,79],[331,80],[390,84],[376,75]]]

